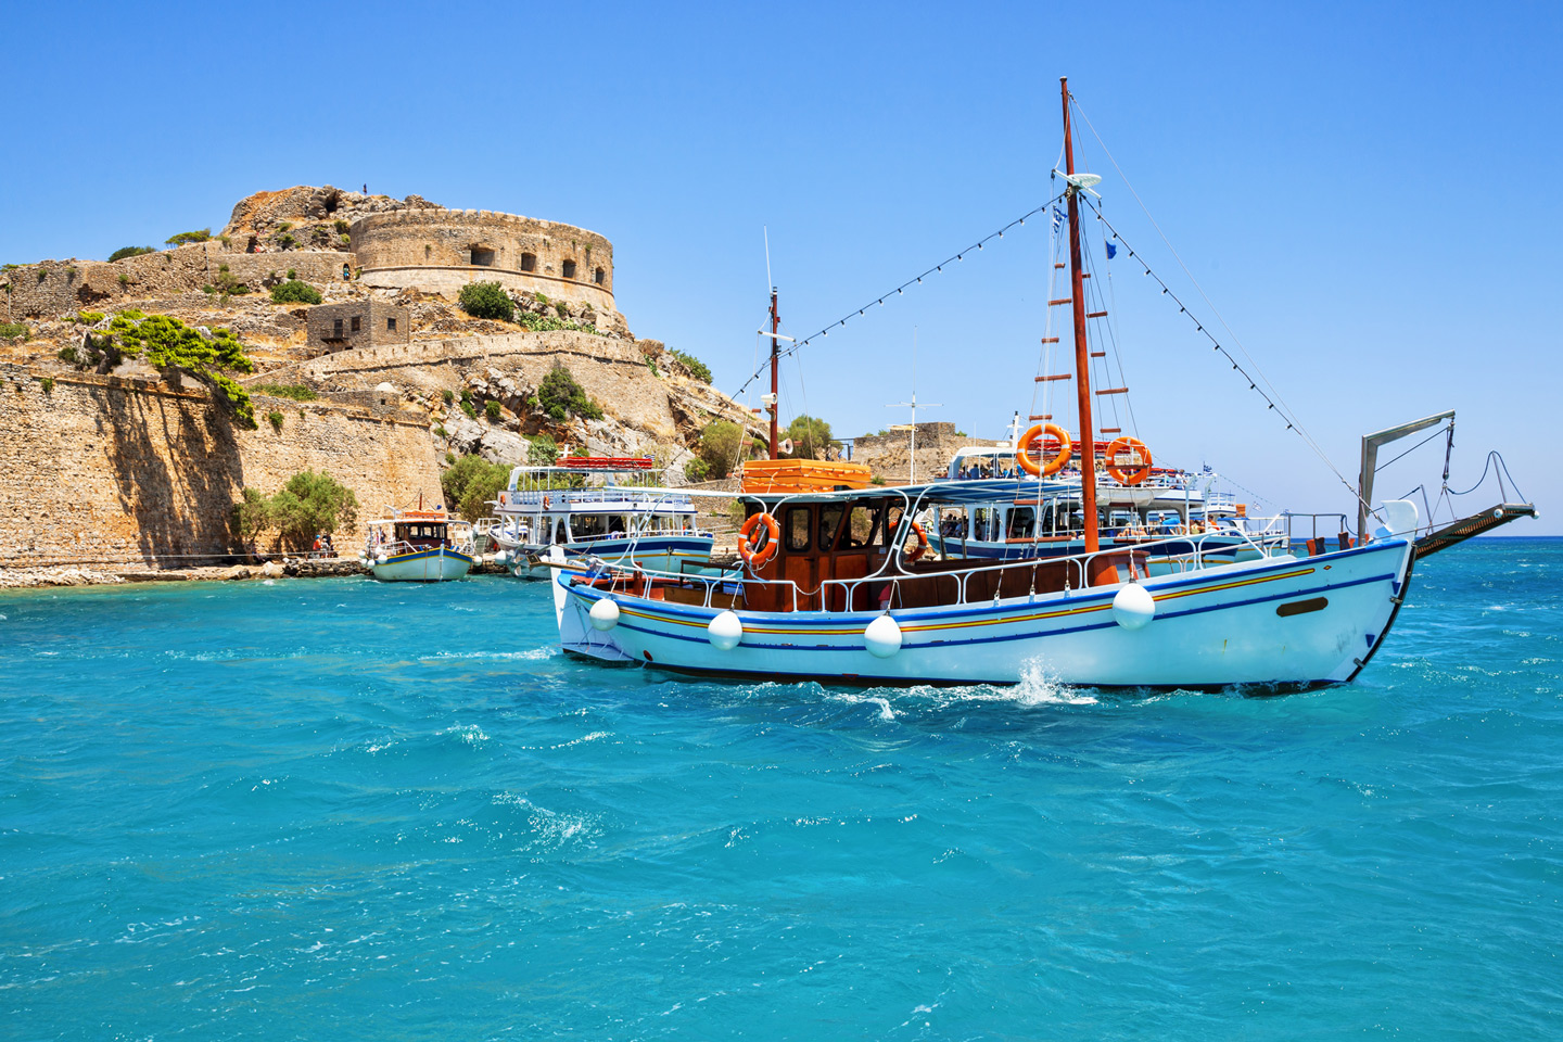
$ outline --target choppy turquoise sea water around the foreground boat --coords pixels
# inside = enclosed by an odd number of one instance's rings
[[[0,595],[0,1037],[1558,1037],[1560,583],[1449,550],[1279,698],[605,669],[508,578]]]

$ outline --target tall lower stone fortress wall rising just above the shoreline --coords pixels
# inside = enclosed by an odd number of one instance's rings
[[[233,501],[270,495],[314,469],[353,489],[359,516],[439,500],[424,423],[352,409],[256,398],[261,428],[239,430],[206,389],[153,380],[53,375],[0,366],[0,558],[153,561],[228,555]],[[284,412],[274,431],[264,416]],[[302,411],[302,416],[300,416]],[[363,525],[338,547],[363,541]]]

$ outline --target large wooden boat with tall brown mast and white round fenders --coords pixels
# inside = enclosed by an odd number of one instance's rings
[[[1008,489],[946,480],[742,495],[749,517],[738,576],[606,561],[586,572],[558,567],[553,598],[566,650],[686,673],[871,684],[1018,683],[1041,675],[1088,686],[1291,689],[1344,683],[1361,672],[1405,598],[1418,526],[1413,503],[1374,508],[1371,534],[1304,559],[1271,553],[1247,533],[1102,541],[1096,434],[1108,431],[1093,420],[1089,359],[1102,351],[1088,348],[1086,327],[1105,312],[1086,312],[1080,242],[1080,197],[1100,178],[1074,170],[1069,106],[1064,86],[1071,294],[1049,303],[1071,305],[1074,372],[1036,380],[1075,381],[1078,545],[1021,559],[927,553],[932,541],[919,519],[991,506],[996,495],[1011,506],[1047,501],[1036,489],[1061,462],[1057,453],[1043,459],[1041,450],[1046,436],[1061,442],[1068,434],[1039,423],[1018,445],[1027,480]],[[1053,214],[1063,223],[1057,208]],[[772,347],[772,386],[775,359]],[[1110,466],[1149,469],[1136,439],[1113,439],[1107,455]],[[1068,537],[1072,542],[1074,533]],[[1233,559],[1233,539],[1252,551],[1249,559]],[[550,556],[563,566],[563,553]],[[1147,570],[1155,558],[1182,564],[1155,573]]]

